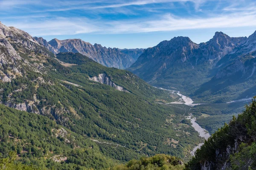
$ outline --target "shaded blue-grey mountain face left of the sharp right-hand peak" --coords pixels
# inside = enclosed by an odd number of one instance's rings
[[[147,48],[137,61],[127,70],[137,74],[145,81],[151,81],[163,74],[171,74],[177,67],[194,66],[204,62],[206,53],[189,37],[174,37],[158,45]]]

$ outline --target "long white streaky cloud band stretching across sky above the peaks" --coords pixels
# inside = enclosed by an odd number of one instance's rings
[[[105,21],[88,18],[56,17],[48,20],[31,19],[28,22],[4,23],[15,26],[37,36],[71,34],[130,34],[155,31],[177,31],[201,28],[235,28],[256,26],[256,11],[239,12],[216,17],[177,17],[172,14],[151,20]]]

